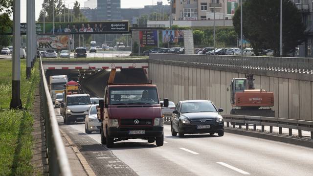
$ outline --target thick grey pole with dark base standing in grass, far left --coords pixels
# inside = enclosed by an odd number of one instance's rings
[[[21,0],[13,1],[12,99],[10,108],[22,108],[21,101]]]

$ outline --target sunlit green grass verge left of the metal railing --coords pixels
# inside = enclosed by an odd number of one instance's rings
[[[34,174],[32,159],[32,124],[35,90],[39,86],[38,63],[26,80],[26,63],[21,60],[21,100],[24,110],[10,110],[12,61],[0,60],[0,176]]]

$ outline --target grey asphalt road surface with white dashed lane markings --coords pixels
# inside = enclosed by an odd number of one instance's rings
[[[58,109],[56,109],[58,114]],[[254,137],[225,133],[172,136],[164,125],[164,145],[132,139],[108,150],[100,134],[85,133],[84,123],[63,125],[96,175],[139,176],[312,176],[313,149]],[[108,161],[109,160],[109,161]],[[103,164],[109,162],[111,164]],[[112,165],[120,163],[120,165]],[[103,168],[110,168],[103,171]]]

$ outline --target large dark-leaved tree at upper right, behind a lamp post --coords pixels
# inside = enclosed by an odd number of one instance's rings
[[[240,8],[233,17],[236,33],[240,34]],[[283,0],[283,55],[295,51],[305,41],[307,33],[301,13],[291,0]],[[254,53],[272,49],[274,56],[280,48],[280,0],[246,0],[243,4],[243,35]]]

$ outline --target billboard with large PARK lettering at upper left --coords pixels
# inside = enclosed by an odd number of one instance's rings
[[[67,50],[70,43],[68,35],[37,36],[37,49],[39,50]]]

